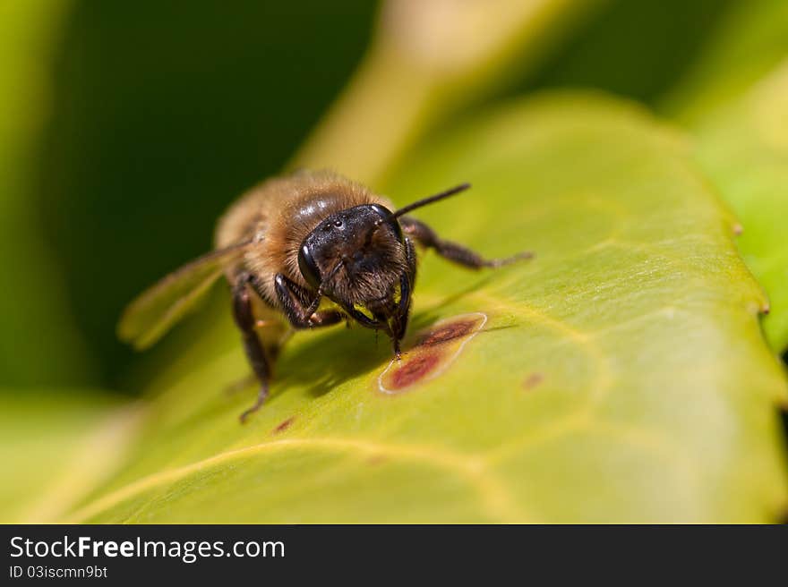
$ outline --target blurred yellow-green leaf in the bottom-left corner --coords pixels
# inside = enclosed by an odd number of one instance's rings
[[[0,523],[64,515],[123,464],[141,414],[98,391],[0,390]]]

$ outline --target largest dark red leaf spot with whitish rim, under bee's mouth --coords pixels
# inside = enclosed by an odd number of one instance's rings
[[[454,362],[467,342],[484,327],[482,312],[444,319],[416,336],[416,343],[392,361],[378,378],[384,394],[398,394],[418,383],[438,377]]]

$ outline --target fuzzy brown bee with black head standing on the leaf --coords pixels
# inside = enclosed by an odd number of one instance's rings
[[[471,269],[530,256],[484,259],[409,216],[469,187],[463,183],[394,208],[363,185],[327,171],[267,180],[219,219],[214,251],[128,305],[118,336],[137,349],[153,345],[225,276],[244,351],[260,384],[242,422],[265,402],[272,362],[294,329],[356,322],[388,335],[399,358],[415,285],[415,244]]]

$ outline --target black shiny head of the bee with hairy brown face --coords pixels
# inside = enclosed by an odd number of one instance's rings
[[[326,217],[306,236],[298,268],[309,285],[341,307],[373,320],[387,315],[407,271],[402,229],[379,204],[347,208]]]

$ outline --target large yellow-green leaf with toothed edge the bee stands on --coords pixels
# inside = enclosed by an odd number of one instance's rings
[[[63,520],[776,519],[785,383],[764,297],[679,137],[627,104],[553,96],[444,136],[399,178],[399,203],[474,183],[421,216],[485,254],[536,253],[485,273],[426,255],[410,340],[486,317],[453,362],[388,395],[387,341],[298,334],[242,426],[254,390],[222,391],[247,372],[224,319],[153,384],[123,472]]]

